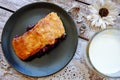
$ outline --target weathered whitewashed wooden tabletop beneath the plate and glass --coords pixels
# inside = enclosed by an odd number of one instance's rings
[[[51,2],[57,4],[68,11],[73,6],[80,8],[77,10],[81,15],[88,15],[88,5],[95,2],[96,0],[0,0],[0,35],[2,33],[2,29],[8,20],[8,18],[19,8],[26,4],[34,3],[34,2]],[[116,2],[120,10],[120,0],[112,0]],[[119,11],[120,13],[120,11]],[[61,71],[56,74],[42,77],[42,78],[33,78],[29,76],[25,76],[16,70],[14,70],[5,60],[2,49],[0,47],[0,80],[109,80],[110,78],[101,77],[100,75],[95,74],[92,70],[90,70],[86,62],[84,60],[85,48],[88,42],[88,39],[95,33],[89,29],[89,25],[84,24],[86,27],[86,31],[83,34],[79,33],[79,28],[83,26],[83,23],[78,23],[76,21],[76,15],[78,13],[71,12],[71,16],[76,22],[79,42],[78,48],[75,53],[72,61]],[[115,26],[120,27],[120,16],[118,15],[117,20],[115,21]],[[1,40],[1,39],[0,39]],[[113,80],[113,79],[112,79]],[[120,80],[120,79],[117,79]]]

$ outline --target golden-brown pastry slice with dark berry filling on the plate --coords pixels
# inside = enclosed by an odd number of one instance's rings
[[[26,60],[39,51],[46,51],[64,35],[62,21],[55,12],[51,12],[23,35],[13,38],[12,45],[16,55]]]

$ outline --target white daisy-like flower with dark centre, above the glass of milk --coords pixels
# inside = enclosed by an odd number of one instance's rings
[[[91,22],[92,28],[105,29],[114,24],[118,15],[115,3],[110,0],[98,0],[89,6],[91,12],[87,19]]]

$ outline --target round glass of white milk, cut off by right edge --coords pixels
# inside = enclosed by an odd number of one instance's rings
[[[105,29],[89,41],[86,59],[90,68],[108,77],[120,77],[120,29]]]

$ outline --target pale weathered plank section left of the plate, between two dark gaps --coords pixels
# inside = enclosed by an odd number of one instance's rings
[[[3,30],[3,27],[6,23],[6,21],[8,20],[8,18],[11,16],[11,14],[12,13],[10,13],[6,10],[0,9],[0,41],[1,41],[1,33]]]

